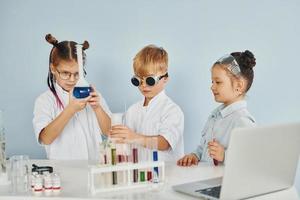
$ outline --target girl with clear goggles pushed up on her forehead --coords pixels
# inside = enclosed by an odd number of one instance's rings
[[[254,55],[234,52],[220,58],[211,70],[211,91],[215,101],[222,103],[209,116],[198,148],[177,161],[180,166],[198,164],[200,160],[218,165],[226,159],[231,131],[237,127],[255,126],[247,110],[245,96],[253,82]]]

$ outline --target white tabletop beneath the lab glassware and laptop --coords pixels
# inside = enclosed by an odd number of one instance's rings
[[[10,187],[0,186],[0,199],[197,199],[172,190],[172,185],[191,181],[204,180],[220,177],[223,175],[223,166],[211,167],[206,163],[198,166],[178,167],[175,163],[166,163],[165,184],[155,190],[134,189],[110,193],[98,193],[91,195],[87,188],[88,163],[86,161],[54,161],[54,160],[31,160],[37,165],[50,165],[61,174],[62,190],[58,196],[46,197],[44,194],[35,197],[31,192],[23,195],[12,194]],[[35,198],[33,198],[35,197]],[[260,196],[254,199],[299,199],[295,188],[286,191]]]

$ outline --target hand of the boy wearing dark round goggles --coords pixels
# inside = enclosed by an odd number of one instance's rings
[[[115,125],[110,131],[110,137],[116,138],[117,142],[126,142],[128,140],[134,140],[141,138],[141,135],[135,133],[131,129],[123,125]]]

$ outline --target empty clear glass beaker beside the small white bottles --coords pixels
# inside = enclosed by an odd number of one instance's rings
[[[29,157],[14,155],[10,157],[10,177],[13,193],[26,193],[29,190]]]

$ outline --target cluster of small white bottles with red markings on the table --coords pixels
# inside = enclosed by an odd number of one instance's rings
[[[35,195],[51,196],[57,195],[61,190],[60,176],[58,173],[50,174],[48,171],[43,174],[32,172],[31,174],[31,188]]]

